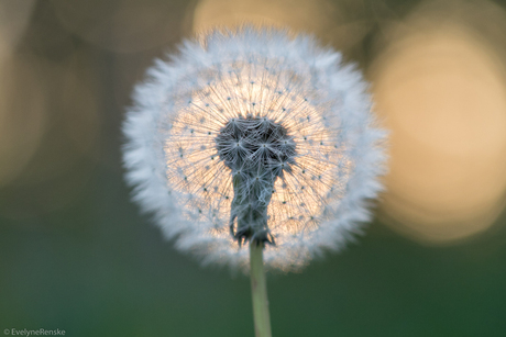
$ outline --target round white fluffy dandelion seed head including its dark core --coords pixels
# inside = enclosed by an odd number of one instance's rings
[[[133,199],[205,262],[248,268],[238,241],[253,239],[275,243],[264,259],[282,270],[342,248],[370,218],[385,161],[360,72],[268,29],[179,52],[148,70],[123,124]]]

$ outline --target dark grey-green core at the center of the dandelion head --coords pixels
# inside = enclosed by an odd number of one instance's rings
[[[220,159],[232,170],[233,201],[230,232],[245,241],[274,245],[267,226],[267,206],[277,177],[295,164],[295,142],[287,130],[265,117],[229,121],[215,139]]]

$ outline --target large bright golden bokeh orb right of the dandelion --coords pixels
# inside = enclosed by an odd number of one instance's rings
[[[499,54],[464,25],[428,13],[393,32],[372,70],[376,108],[392,130],[383,215],[418,240],[470,237],[488,228],[504,204]]]

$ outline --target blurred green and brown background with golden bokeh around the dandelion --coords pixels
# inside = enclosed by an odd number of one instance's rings
[[[0,0],[0,329],[253,336],[250,281],[175,251],[123,182],[155,57],[213,25],[315,34],[391,130],[366,234],[270,274],[274,336],[506,336],[506,1]]]

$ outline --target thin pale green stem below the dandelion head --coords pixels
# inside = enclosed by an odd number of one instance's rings
[[[251,295],[253,300],[253,321],[256,337],[271,337],[268,315],[267,283],[263,261],[263,244],[250,241]]]

